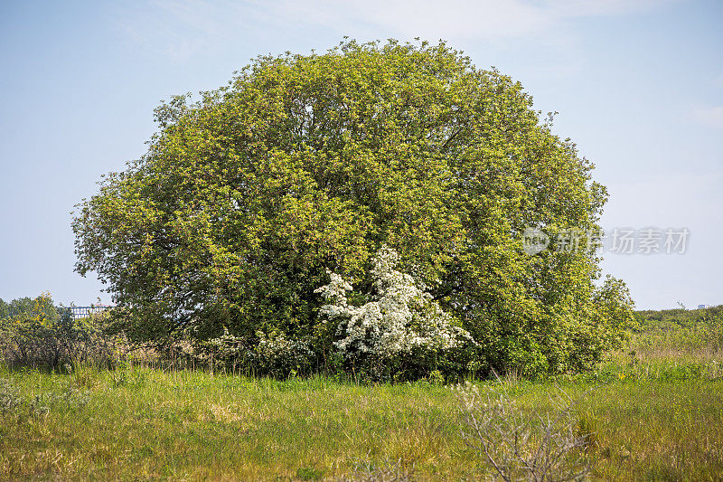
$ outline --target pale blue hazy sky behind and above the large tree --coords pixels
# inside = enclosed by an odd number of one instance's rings
[[[723,303],[723,2],[0,3],[0,298],[108,302],[73,271],[70,211],[141,156],[153,109],[258,54],[443,38],[520,80],[596,164],[602,224],[688,228],[684,253],[617,254],[638,307]]]

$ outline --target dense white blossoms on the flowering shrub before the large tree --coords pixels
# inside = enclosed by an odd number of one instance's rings
[[[339,319],[334,345],[345,356],[373,354],[382,358],[405,354],[413,349],[446,350],[472,337],[432,299],[423,285],[408,274],[394,269],[399,254],[382,246],[373,258],[371,276],[376,292],[361,307],[348,303],[346,292],[352,285],[329,272],[328,285],[317,288],[328,304],[321,314]]]

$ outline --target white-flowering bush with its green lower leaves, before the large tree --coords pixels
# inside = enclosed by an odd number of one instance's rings
[[[352,285],[336,273],[330,272],[329,284],[316,289],[329,303],[320,314],[333,324],[317,331],[334,334],[333,346],[348,364],[375,376],[409,372],[407,376],[418,378],[437,369],[438,360],[453,349],[474,350],[472,336],[425,287],[394,269],[399,263],[395,250],[382,246],[372,263],[374,293],[360,307],[349,304],[346,292]]]

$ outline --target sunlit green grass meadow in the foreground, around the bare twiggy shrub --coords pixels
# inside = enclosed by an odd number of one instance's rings
[[[687,330],[687,331],[686,331]],[[695,335],[697,334],[697,335]],[[691,336],[697,341],[689,343]],[[666,341],[667,340],[667,341]],[[502,381],[563,390],[594,480],[721,480],[719,323],[653,320],[595,372]],[[484,386],[500,382],[480,382]],[[456,392],[427,382],[273,381],[124,365],[0,371],[0,479],[480,480]],[[396,478],[395,478],[396,477]]]

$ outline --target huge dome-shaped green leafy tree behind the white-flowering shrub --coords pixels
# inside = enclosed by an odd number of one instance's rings
[[[383,243],[474,336],[477,366],[580,368],[631,319],[624,285],[596,288],[594,249],[521,249],[531,226],[599,231],[593,165],[519,82],[445,43],[259,57],[156,119],[73,222],[77,269],[136,336],[313,336],[325,269],[368,291]]]

